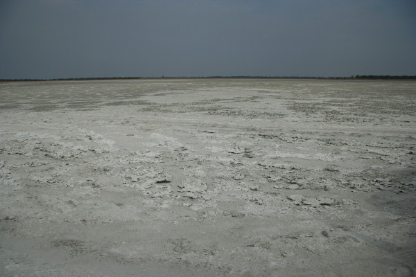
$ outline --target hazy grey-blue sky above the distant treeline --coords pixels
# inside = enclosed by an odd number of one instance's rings
[[[0,0],[0,78],[416,75],[414,0]]]

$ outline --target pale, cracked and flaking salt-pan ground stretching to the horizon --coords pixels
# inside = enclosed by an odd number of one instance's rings
[[[416,82],[0,84],[0,276],[414,276]]]

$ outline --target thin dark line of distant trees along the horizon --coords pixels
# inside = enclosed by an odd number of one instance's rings
[[[416,75],[355,75],[350,77],[309,76],[208,76],[208,77],[94,77],[59,79],[0,79],[0,82],[91,81],[91,80],[154,80],[154,79],[326,79],[326,80],[416,80]]]

